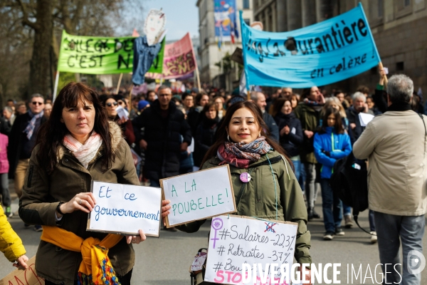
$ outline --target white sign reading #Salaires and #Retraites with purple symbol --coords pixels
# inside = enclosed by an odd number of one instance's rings
[[[243,284],[243,264],[249,264],[252,274],[256,266],[256,284],[273,284],[265,264],[277,264],[273,274],[277,284],[290,284],[290,279],[280,282],[280,266],[292,267],[295,252],[297,224],[267,221],[243,216],[219,216],[212,219],[209,236],[208,261],[204,281],[219,284]],[[285,268],[286,268],[285,267]],[[261,270],[260,270],[261,268]],[[253,275],[251,275],[251,283]],[[271,281],[271,283],[270,283]]]

